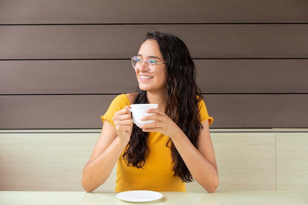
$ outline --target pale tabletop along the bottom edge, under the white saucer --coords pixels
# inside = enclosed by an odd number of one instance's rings
[[[296,192],[161,192],[163,198],[144,203],[125,202],[116,192],[0,191],[0,205],[308,205]]]

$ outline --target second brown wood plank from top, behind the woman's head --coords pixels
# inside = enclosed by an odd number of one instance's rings
[[[0,59],[129,59],[150,30],[178,35],[196,59],[308,58],[308,24],[0,26]]]

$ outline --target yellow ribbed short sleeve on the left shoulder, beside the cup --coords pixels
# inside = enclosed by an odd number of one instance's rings
[[[107,112],[101,116],[101,120],[104,122],[107,120],[113,126],[115,126],[112,118],[114,117],[115,112],[122,110],[126,105],[130,105],[130,102],[125,94],[118,95],[110,104]]]

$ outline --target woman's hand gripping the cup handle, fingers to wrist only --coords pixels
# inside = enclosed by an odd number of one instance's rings
[[[118,137],[120,140],[126,141],[127,143],[129,142],[133,127],[131,113],[128,108],[130,108],[130,106],[126,106],[124,109],[116,112],[112,118]]]

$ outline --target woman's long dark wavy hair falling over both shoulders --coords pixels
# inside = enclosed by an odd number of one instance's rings
[[[201,90],[196,85],[196,68],[185,43],[177,36],[163,32],[149,32],[146,40],[155,40],[166,62],[167,90],[166,115],[185,133],[190,142],[197,147],[198,136],[203,129],[198,103],[202,99]],[[149,103],[147,91],[137,89],[134,103]],[[149,133],[133,125],[132,134],[124,150],[123,159],[128,166],[142,168],[149,155],[147,139]],[[166,146],[171,148],[174,176],[183,182],[193,180],[184,160],[169,139]]]

